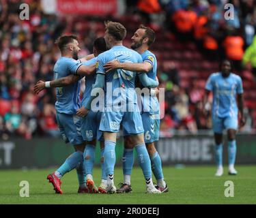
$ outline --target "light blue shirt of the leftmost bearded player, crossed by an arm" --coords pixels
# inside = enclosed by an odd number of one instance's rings
[[[70,74],[76,74],[76,70],[82,65],[81,61],[72,58],[60,57],[53,68],[55,80],[63,78]],[[67,87],[56,88],[57,102],[55,109],[63,114],[76,114],[81,106],[80,98],[80,80]]]

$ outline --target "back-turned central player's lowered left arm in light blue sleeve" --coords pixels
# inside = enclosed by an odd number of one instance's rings
[[[79,108],[79,110],[77,110],[76,114],[78,116],[86,116],[89,112],[89,110],[91,110],[91,102],[97,97],[97,95],[94,95],[94,89],[103,89],[105,86],[105,75],[104,74],[97,74],[96,76],[96,82],[94,84],[94,86],[92,87],[91,90],[91,96],[89,98],[89,101],[87,103],[86,106],[82,106],[81,108]]]

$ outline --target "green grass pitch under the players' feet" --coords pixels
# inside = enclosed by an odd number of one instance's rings
[[[76,172],[63,176],[63,195],[55,194],[46,176],[47,170],[0,170],[0,204],[256,204],[256,167],[236,166],[237,176],[214,176],[214,166],[164,167],[169,192],[159,195],[145,193],[140,168],[132,170],[132,193],[78,194]],[[94,169],[96,184],[100,168]],[[21,198],[20,181],[29,182],[29,198]],[[233,181],[234,197],[225,197],[225,181]],[[122,182],[122,168],[115,168],[115,185]]]

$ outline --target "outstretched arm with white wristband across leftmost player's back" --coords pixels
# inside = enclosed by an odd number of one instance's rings
[[[73,84],[78,80],[80,80],[80,76],[74,74],[70,74],[69,76],[46,82],[39,80],[37,84],[35,84],[35,86],[33,87],[33,91],[35,94],[38,94],[40,93],[40,91],[46,88],[67,87],[68,85]]]

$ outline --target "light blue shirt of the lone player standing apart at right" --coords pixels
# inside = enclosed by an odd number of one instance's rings
[[[212,114],[220,118],[238,116],[236,95],[243,93],[242,79],[236,74],[224,78],[220,72],[211,74],[205,89],[214,95]]]

